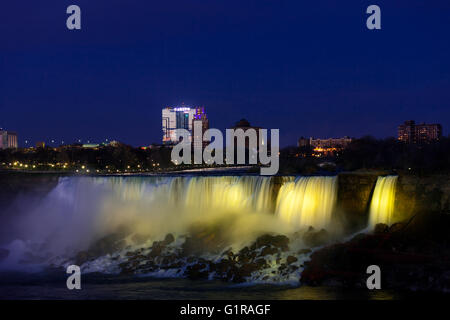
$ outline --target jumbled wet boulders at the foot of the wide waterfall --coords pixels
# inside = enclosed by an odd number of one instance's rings
[[[292,274],[298,277],[303,267],[301,257],[311,252],[310,249],[291,252],[289,245],[290,239],[285,235],[265,234],[233,251],[220,234],[202,229],[178,238],[168,234],[150,246],[131,249],[124,247],[121,236],[111,235],[95,242],[89,250],[79,252],[74,260],[88,265],[99,256],[107,255],[117,261],[119,273],[125,275],[158,273],[235,283],[249,279],[276,281]]]

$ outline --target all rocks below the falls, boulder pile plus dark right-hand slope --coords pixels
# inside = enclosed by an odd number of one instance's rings
[[[90,271],[114,265],[111,270],[126,275],[345,288],[366,288],[366,269],[375,264],[383,289],[450,292],[449,217],[419,215],[390,227],[379,224],[347,242],[312,228],[289,237],[265,234],[239,250],[208,230],[168,234],[132,250],[114,236],[79,252],[74,262]]]

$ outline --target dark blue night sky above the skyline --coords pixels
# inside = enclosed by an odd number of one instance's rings
[[[21,145],[161,142],[161,108],[181,102],[215,128],[279,128],[282,146],[450,128],[449,1],[18,0],[0,23],[0,126]]]

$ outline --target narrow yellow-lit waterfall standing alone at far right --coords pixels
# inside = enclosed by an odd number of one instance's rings
[[[392,223],[397,176],[378,177],[370,203],[369,227],[377,223]]]

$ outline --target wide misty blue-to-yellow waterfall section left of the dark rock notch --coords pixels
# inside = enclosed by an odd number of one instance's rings
[[[163,237],[183,233],[192,224],[216,219],[248,230],[280,228],[272,217],[272,177],[69,177],[38,204],[15,213],[14,239],[46,241],[62,254],[85,249],[92,241],[123,226],[137,234]],[[25,200],[25,201],[24,201]],[[261,216],[258,218],[257,215]],[[233,218],[233,219],[232,219]],[[257,221],[260,220],[260,221]],[[240,225],[239,225],[240,224]],[[245,230],[244,230],[245,229]],[[242,234],[241,234],[242,235]]]

